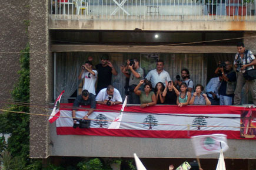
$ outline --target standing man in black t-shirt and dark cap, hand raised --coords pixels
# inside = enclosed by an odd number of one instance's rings
[[[103,55],[101,57],[101,63],[97,64],[95,67],[98,70],[98,84],[96,90],[96,94],[98,94],[101,89],[111,84],[112,74],[117,76],[117,71],[112,63],[109,62],[108,55]]]

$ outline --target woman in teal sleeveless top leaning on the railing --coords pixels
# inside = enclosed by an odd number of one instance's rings
[[[178,106],[182,107],[188,105],[190,98],[191,93],[188,91],[187,83],[181,83],[181,92],[179,92],[179,97],[177,97]]]

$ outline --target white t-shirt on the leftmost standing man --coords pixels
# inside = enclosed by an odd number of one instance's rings
[[[92,70],[92,72],[95,73],[95,76],[91,74],[90,72],[84,71],[82,73],[82,79],[84,79],[84,86],[82,87],[82,90],[88,90],[89,93],[92,93],[96,95],[95,93],[95,83],[97,80],[98,72],[96,70]]]

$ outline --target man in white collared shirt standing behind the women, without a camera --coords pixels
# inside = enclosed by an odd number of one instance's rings
[[[153,88],[155,88],[155,85],[158,82],[162,82],[165,84],[165,81],[171,81],[169,73],[164,70],[164,61],[158,60],[157,69],[148,72],[145,79],[148,79],[151,82]]]

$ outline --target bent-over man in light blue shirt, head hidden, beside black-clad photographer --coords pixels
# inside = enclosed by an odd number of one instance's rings
[[[218,89],[221,85],[222,77],[212,78],[206,86],[206,93],[211,101],[211,105],[220,105],[220,95],[218,94]]]

